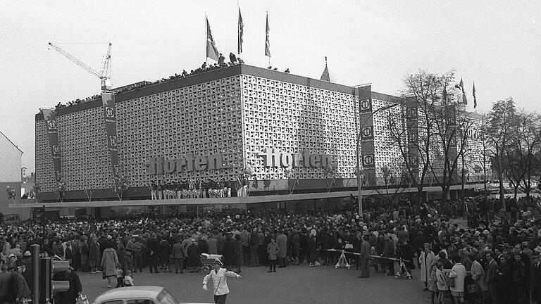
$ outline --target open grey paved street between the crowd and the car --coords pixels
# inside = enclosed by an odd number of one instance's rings
[[[355,270],[332,266],[290,266],[268,274],[266,267],[242,268],[242,279],[228,279],[230,294],[228,303],[428,303],[428,292],[414,279],[394,279],[375,274],[370,279],[359,279]],[[80,273],[85,293],[90,302],[99,293],[107,291],[101,274]],[[165,286],[182,302],[213,303],[211,287],[201,289],[201,273],[135,274],[136,285]]]

